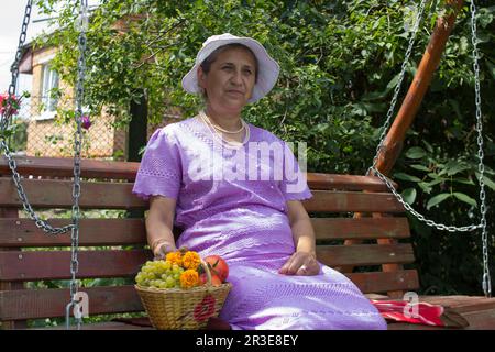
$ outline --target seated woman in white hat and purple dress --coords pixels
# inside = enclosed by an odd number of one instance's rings
[[[157,257],[185,245],[226,260],[233,288],[220,318],[232,329],[386,329],[349,278],[317,261],[300,202],[312,195],[288,144],[242,119],[278,72],[253,38],[204,43],[183,87],[205,109],[152,135],[134,184],[150,199],[148,243]]]

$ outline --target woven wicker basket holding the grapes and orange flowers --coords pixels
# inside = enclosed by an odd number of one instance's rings
[[[211,273],[201,261],[208,283],[188,289],[135,285],[151,323],[158,330],[204,329],[208,319],[218,317],[232,284],[211,285]]]

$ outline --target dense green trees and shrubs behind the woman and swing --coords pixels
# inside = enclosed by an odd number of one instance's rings
[[[54,0],[38,0],[46,13]],[[59,46],[55,68],[75,81],[75,1],[63,2],[61,30],[43,41]],[[308,145],[308,170],[364,174],[398,82],[415,11],[411,1],[107,0],[91,13],[86,105],[129,122],[129,105],[144,88],[150,119],[175,108],[193,116],[201,100],[180,87],[201,43],[230,32],[257,38],[280,64],[272,94],[248,107],[245,119],[286,141]],[[495,165],[495,7],[477,1],[485,163]],[[403,196],[438,222],[479,221],[474,80],[466,1],[429,91],[395,165]],[[451,9],[431,1],[407,63],[410,81],[439,15]],[[131,21],[132,19],[132,21]],[[124,24],[118,30],[116,22]],[[42,40],[40,41],[42,42]],[[406,84],[405,84],[406,85]],[[403,95],[404,96],[404,95]],[[486,128],[488,127],[488,128]],[[486,200],[494,202],[494,175],[486,168]],[[492,233],[494,210],[487,210]],[[451,234],[411,218],[422,286],[429,292],[480,293],[477,233]],[[493,238],[491,239],[493,243]],[[492,245],[492,251],[493,251]],[[492,272],[495,267],[492,263]]]

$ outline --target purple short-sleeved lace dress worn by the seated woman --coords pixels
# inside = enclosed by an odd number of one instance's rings
[[[286,201],[312,195],[288,144],[249,125],[249,141],[234,150],[197,118],[157,130],[133,193],[176,199],[177,246],[227,261],[233,288],[220,318],[233,329],[386,329],[339,272],[320,264],[316,276],[278,274],[295,251]]]

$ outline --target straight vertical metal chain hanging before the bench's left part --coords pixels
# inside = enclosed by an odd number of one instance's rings
[[[70,328],[70,308],[74,307],[75,311],[78,314],[75,315],[77,329],[80,329],[82,317],[79,314],[79,301],[76,300],[76,295],[78,292],[78,284],[76,280],[76,274],[79,271],[79,261],[77,258],[78,249],[79,249],[79,197],[80,197],[80,150],[81,150],[81,141],[82,141],[82,131],[81,131],[81,120],[82,120],[82,101],[85,96],[85,74],[86,74],[86,25],[88,21],[88,1],[81,0],[79,8],[79,58],[77,61],[77,84],[76,84],[76,121],[77,129],[74,133],[74,186],[73,186],[73,231],[70,234],[72,246],[70,246],[70,302],[66,307],[66,328]]]

